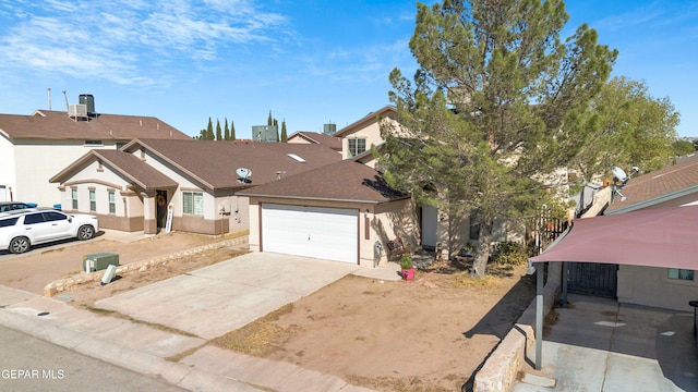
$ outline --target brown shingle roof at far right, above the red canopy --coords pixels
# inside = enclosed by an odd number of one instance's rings
[[[621,193],[626,200],[621,201],[616,197],[605,212],[649,207],[690,193],[696,193],[698,198],[698,155],[633,177],[621,188]]]

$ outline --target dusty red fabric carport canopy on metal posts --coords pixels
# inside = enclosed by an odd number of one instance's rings
[[[564,237],[529,260],[698,270],[698,206],[577,219]]]

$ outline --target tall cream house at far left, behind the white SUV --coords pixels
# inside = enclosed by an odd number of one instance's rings
[[[49,183],[58,170],[86,151],[118,149],[134,138],[191,139],[152,117],[37,110],[32,115],[0,114],[0,201],[52,206],[60,193]]]

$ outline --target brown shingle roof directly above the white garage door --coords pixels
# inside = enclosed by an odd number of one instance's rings
[[[374,169],[352,160],[342,160],[237,194],[376,204],[409,197],[390,188]]]

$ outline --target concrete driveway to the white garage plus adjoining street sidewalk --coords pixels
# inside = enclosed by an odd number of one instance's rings
[[[206,342],[349,273],[399,280],[398,268],[254,253],[96,304],[192,335],[5,286],[0,286],[0,324],[192,391],[370,391],[332,375]]]

